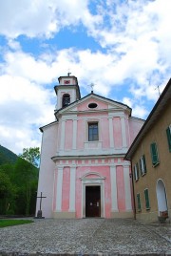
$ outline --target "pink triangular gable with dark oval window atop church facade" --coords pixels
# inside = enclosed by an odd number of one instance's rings
[[[91,108],[90,104],[97,104],[96,107]],[[95,110],[128,110],[131,113],[131,109],[118,101],[106,98],[104,96],[98,96],[95,94],[87,95],[80,100],[76,100],[68,105],[66,108],[60,109],[57,112],[60,114],[66,114],[70,112],[79,112],[79,111],[95,111]]]

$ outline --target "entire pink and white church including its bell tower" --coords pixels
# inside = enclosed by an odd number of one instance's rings
[[[124,156],[144,121],[93,91],[81,97],[74,75],[58,80],[55,121],[40,128],[36,213],[41,207],[45,218],[132,218],[131,166]]]

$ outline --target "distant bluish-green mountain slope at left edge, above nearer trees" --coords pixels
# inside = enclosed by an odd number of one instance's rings
[[[0,165],[5,163],[15,163],[18,156],[11,152],[8,148],[0,145]]]

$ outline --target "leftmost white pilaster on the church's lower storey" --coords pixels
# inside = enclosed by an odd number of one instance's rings
[[[58,167],[57,188],[56,188],[56,210],[62,210],[62,189],[63,189],[63,167]]]

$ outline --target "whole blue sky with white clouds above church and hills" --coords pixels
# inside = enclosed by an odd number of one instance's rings
[[[41,145],[58,77],[146,118],[171,76],[170,0],[0,0],[0,144]]]

